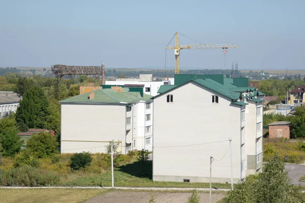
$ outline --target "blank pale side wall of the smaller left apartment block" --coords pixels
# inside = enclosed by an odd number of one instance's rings
[[[62,104],[62,140],[126,142],[126,106]],[[61,142],[61,153],[106,152],[108,143]],[[125,153],[125,147],[119,149]]]

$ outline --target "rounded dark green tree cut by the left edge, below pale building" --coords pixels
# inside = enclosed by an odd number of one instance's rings
[[[13,156],[21,150],[23,141],[16,134],[16,128],[7,128],[3,134],[0,134],[1,150],[4,156]]]

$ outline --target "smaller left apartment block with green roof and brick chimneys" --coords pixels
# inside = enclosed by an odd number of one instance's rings
[[[117,151],[123,154],[151,151],[154,105],[150,97],[141,88],[102,85],[102,89],[60,101],[61,153],[105,153],[109,141],[119,142]]]

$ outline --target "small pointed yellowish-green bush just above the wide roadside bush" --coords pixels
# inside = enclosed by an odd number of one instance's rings
[[[31,154],[31,152],[26,149],[17,154],[14,159],[14,167],[20,167],[24,165],[39,167],[38,160]]]

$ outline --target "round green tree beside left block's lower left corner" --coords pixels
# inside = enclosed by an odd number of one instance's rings
[[[46,158],[58,153],[59,143],[49,132],[39,132],[28,139],[26,149],[37,158]]]

